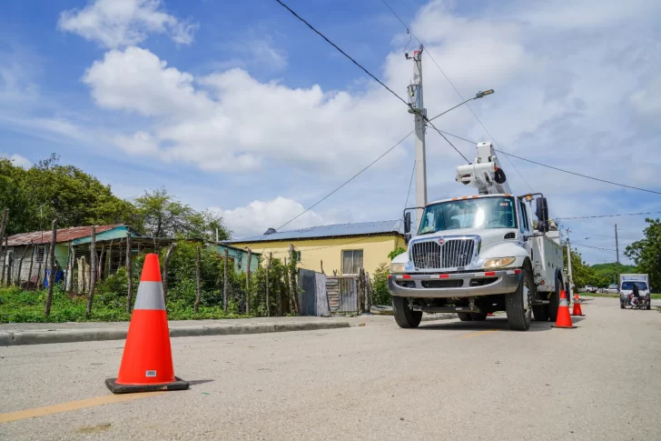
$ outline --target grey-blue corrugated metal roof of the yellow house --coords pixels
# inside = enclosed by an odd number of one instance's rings
[[[244,242],[271,242],[291,239],[317,239],[321,237],[370,236],[383,234],[404,234],[404,226],[400,219],[378,222],[362,222],[360,224],[337,224],[332,226],[312,226],[301,230],[282,231],[270,235],[244,237],[225,241],[228,244]]]

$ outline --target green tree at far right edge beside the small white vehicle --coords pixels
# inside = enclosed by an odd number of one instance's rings
[[[632,259],[637,272],[649,275],[649,284],[658,289],[661,286],[661,220],[645,219],[645,238],[626,246],[625,256]]]

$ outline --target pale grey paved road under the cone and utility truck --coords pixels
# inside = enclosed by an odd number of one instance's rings
[[[0,424],[0,438],[661,439],[661,314],[608,298],[584,313],[528,333],[494,317],[174,338],[190,390]],[[0,414],[104,400],[121,356],[121,342],[0,348]]]

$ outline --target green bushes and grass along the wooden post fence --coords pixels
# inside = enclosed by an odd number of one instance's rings
[[[193,310],[197,296],[195,265],[197,243],[180,241],[175,248],[168,269],[168,293],[166,308],[170,320],[188,320],[202,318],[239,318],[245,314],[246,298],[250,302],[250,316],[266,316],[266,267],[261,266],[251,275],[250,286],[246,286],[246,275],[236,272],[228,263],[228,310],[223,311],[222,292],[224,259],[210,248],[203,248],[201,253],[202,297],[197,313]],[[164,253],[166,250],[162,250]],[[138,267],[142,268],[144,256],[137,258]],[[254,258],[257,258],[256,256]],[[163,261],[163,256],[161,256]],[[295,263],[293,264],[295,265]],[[282,299],[283,313],[290,311],[291,268],[288,263],[273,259],[269,272],[269,300],[271,316],[275,315],[279,297]],[[134,275],[133,292],[137,292],[140,271]],[[0,288],[0,323],[9,322],[83,322],[83,321],[124,321],[126,314],[126,295],[128,280],[124,268],[108,276],[96,286],[92,315],[85,316],[87,296],[69,296],[62,286],[54,287],[51,314],[44,316],[46,290],[23,291],[17,287]]]

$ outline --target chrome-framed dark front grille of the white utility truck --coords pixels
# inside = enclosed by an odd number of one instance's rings
[[[457,268],[469,265],[475,250],[475,240],[446,239],[442,246],[437,240],[417,242],[411,246],[411,257],[416,269]]]

